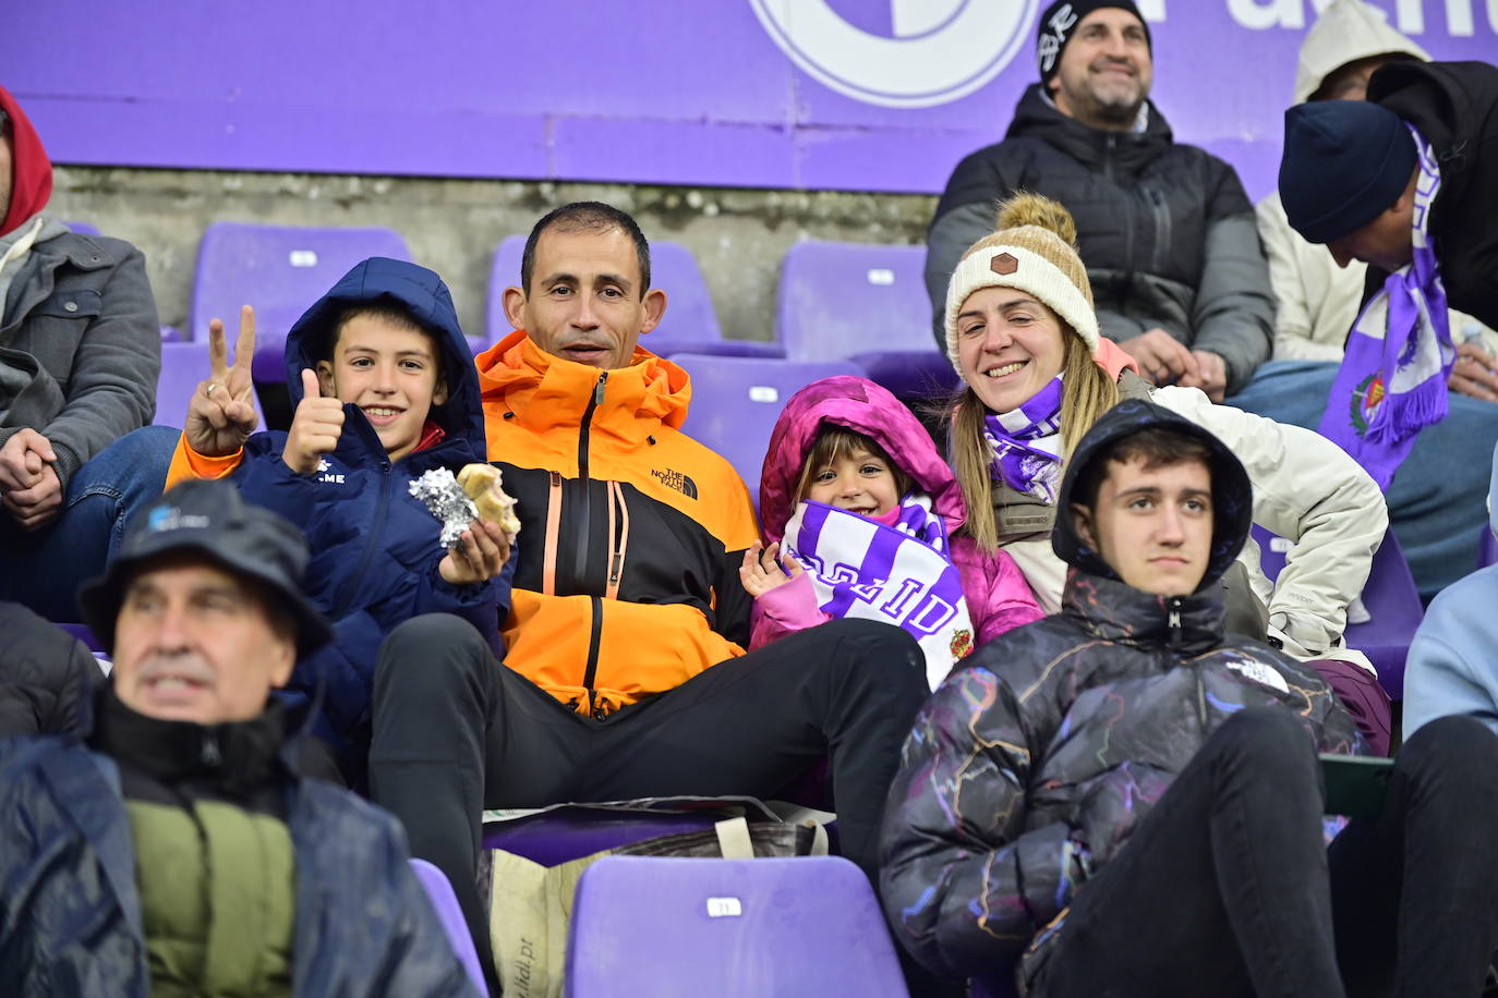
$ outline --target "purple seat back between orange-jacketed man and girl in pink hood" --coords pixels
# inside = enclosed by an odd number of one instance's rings
[[[728,458],[756,507],[764,452],[786,399],[824,377],[863,374],[848,361],[800,364],[701,353],[679,353],[671,361],[692,376],[692,404],[682,431]]]

